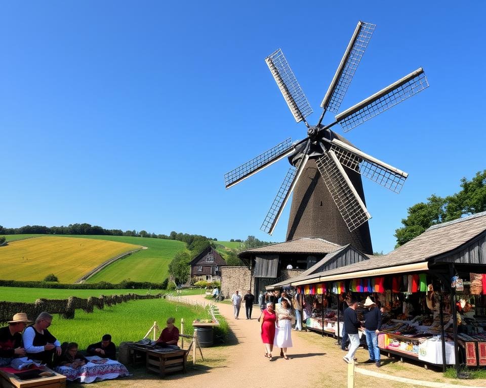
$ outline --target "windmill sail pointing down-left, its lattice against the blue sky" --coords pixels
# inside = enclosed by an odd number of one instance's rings
[[[287,171],[287,175],[285,176],[284,181],[282,182],[280,188],[278,189],[277,195],[273,200],[272,206],[265,217],[265,220],[262,223],[261,230],[265,233],[272,234],[275,226],[277,225],[278,219],[284,211],[285,205],[289,201],[290,195],[292,191],[294,191],[294,187],[297,184],[297,181],[304,171],[305,164],[309,157],[307,155],[301,160],[299,168],[295,168],[291,166],[289,171]]]

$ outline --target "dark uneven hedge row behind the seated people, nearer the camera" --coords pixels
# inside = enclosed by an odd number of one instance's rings
[[[102,295],[99,298],[89,297],[88,299],[76,297],[69,297],[68,299],[37,299],[34,303],[0,302],[0,322],[10,321],[19,312],[26,313],[31,320],[35,320],[37,315],[43,311],[47,311],[50,314],[59,314],[64,319],[73,319],[76,309],[92,313],[94,307],[103,310],[105,306],[112,306],[121,302],[155,298],[160,298],[160,295]]]

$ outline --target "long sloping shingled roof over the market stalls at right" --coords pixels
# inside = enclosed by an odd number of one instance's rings
[[[333,270],[303,275],[291,282],[317,279],[319,276],[332,276],[377,268],[396,267],[419,262],[426,262],[434,257],[455,251],[461,246],[486,232],[486,212],[477,213],[469,217],[434,225],[421,235],[408,241],[393,252],[383,256],[370,256],[369,260],[336,268]],[[326,256],[322,260],[327,260]],[[343,277],[344,278],[344,277]],[[318,281],[318,280],[315,280]]]

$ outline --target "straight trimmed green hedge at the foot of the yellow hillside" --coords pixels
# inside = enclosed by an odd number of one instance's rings
[[[27,287],[27,288],[69,288],[69,289],[166,289],[167,281],[163,283],[150,283],[148,281],[128,281],[123,280],[120,283],[108,283],[100,281],[99,283],[57,283],[49,281],[23,281],[23,280],[0,280],[0,286],[4,287]]]

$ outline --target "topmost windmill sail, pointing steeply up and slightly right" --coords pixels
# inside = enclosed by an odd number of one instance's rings
[[[344,94],[348,90],[348,86],[353,79],[354,72],[359,65],[359,61],[361,61],[361,57],[365,54],[366,47],[370,42],[375,27],[375,24],[358,22],[348,47],[344,52],[344,56],[336,70],[336,74],[320,104],[320,107],[325,111],[338,113],[339,107],[343,102]]]

